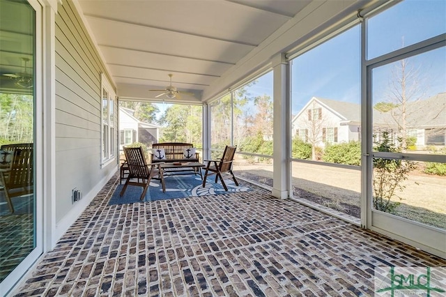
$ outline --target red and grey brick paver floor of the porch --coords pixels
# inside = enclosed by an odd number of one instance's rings
[[[375,266],[446,266],[254,186],[109,206],[117,181],[15,296],[373,296]]]

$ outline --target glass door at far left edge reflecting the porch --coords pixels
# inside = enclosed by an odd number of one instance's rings
[[[41,8],[31,2],[0,0],[0,295],[42,250],[35,183]]]

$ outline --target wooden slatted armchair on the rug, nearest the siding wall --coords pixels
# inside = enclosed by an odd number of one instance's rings
[[[147,164],[142,147],[123,147],[123,150],[125,154],[125,160],[127,160],[128,176],[125,180],[125,184],[123,186],[123,189],[121,190],[120,196],[124,195],[124,192],[125,190],[127,190],[128,185],[136,185],[144,188],[141,197],[139,197],[139,199],[144,200],[144,196],[146,196],[146,192],[148,189],[148,184],[151,182],[153,176],[157,175],[160,176],[162,192],[166,192],[166,186],[164,185],[164,176],[162,176],[162,170],[160,168],[160,165],[162,163]],[[134,178],[136,178],[137,180],[131,181]]]

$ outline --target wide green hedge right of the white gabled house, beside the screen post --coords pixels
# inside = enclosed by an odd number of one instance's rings
[[[360,142],[343,142],[341,144],[328,144],[322,155],[322,160],[345,165],[361,165]]]

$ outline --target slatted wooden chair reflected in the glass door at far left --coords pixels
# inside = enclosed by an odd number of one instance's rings
[[[8,144],[1,148],[13,151],[10,166],[0,169],[0,179],[9,209],[14,213],[11,198],[32,194],[34,190],[33,144]]]

